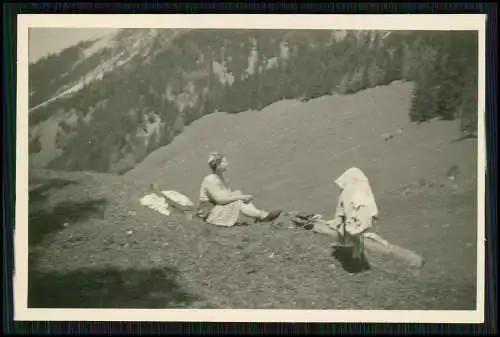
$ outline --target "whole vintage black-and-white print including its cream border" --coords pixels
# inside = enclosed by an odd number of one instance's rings
[[[483,16],[45,16],[19,28],[24,319],[482,321]]]

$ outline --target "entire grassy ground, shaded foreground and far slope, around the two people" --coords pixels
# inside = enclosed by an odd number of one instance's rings
[[[456,141],[457,122],[408,125],[412,86],[205,116],[122,176],[32,171],[29,305],[473,309],[477,144]],[[196,199],[214,148],[258,205],[325,216],[338,194],[332,179],[359,166],[381,210],[376,230],[426,265],[411,272],[373,256],[371,271],[349,274],[326,236],[220,229],[139,204],[151,182]]]

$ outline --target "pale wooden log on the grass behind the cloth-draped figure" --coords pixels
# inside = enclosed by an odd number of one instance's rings
[[[340,242],[342,238],[339,232],[330,228],[325,222],[316,223],[312,230],[315,233],[329,235],[336,242]],[[421,268],[424,265],[424,259],[419,254],[412,252],[409,249],[390,244],[378,235],[367,233],[366,235],[363,235],[363,239],[364,248],[368,253],[391,256],[411,268]]]

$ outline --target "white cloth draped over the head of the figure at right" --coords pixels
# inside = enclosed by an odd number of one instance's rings
[[[344,207],[351,204],[355,208],[365,206],[372,217],[378,215],[378,208],[368,178],[363,171],[352,167],[345,171],[335,183],[342,189],[340,196]]]

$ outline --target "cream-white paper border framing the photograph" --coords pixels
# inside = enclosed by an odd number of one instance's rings
[[[17,16],[15,321],[483,323],[485,304],[485,14],[20,14]],[[28,29],[211,28],[475,30],[479,36],[476,310],[35,309],[28,292]]]

